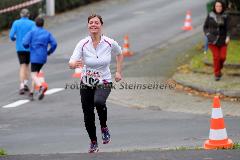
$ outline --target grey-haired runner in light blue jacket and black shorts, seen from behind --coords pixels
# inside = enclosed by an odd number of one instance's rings
[[[29,49],[23,47],[22,40],[23,37],[31,31],[35,23],[29,19],[30,13],[28,9],[22,9],[20,12],[21,18],[15,20],[11,27],[9,38],[12,41],[16,41],[16,50],[18,55],[18,60],[20,63],[19,79],[20,79],[20,89],[19,94],[22,95],[29,91],[28,79],[29,79],[29,61],[30,52]]]

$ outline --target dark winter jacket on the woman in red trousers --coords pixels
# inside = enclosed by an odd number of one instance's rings
[[[210,12],[205,20],[203,30],[209,44],[224,45],[226,37],[230,37],[229,18],[227,14]]]

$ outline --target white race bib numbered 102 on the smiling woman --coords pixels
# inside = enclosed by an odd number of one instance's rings
[[[103,84],[101,72],[94,69],[87,69],[83,67],[81,80],[87,86],[97,86]]]

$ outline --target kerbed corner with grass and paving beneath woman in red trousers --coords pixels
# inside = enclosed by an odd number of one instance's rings
[[[227,61],[222,69],[223,76],[215,81],[213,74],[212,55],[210,52],[201,53],[200,46],[192,47],[189,52],[194,53],[193,58],[186,64],[178,67],[173,80],[178,84],[200,91],[203,94],[219,94],[230,100],[240,99],[240,63],[238,58],[237,41],[229,45]]]

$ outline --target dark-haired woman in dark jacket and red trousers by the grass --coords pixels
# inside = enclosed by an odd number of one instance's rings
[[[208,47],[213,55],[215,80],[222,77],[222,68],[227,56],[227,45],[230,42],[229,19],[225,13],[225,4],[216,0],[213,10],[208,14],[203,30],[208,39]]]

